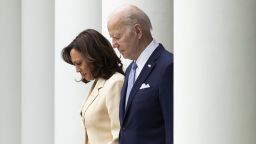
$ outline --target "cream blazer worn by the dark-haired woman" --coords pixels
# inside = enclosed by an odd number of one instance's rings
[[[120,130],[119,102],[124,76],[99,78],[81,106],[85,144],[117,144]]]

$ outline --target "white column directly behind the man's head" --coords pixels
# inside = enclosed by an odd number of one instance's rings
[[[111,41],[107,21],[111,13],[124,4],[134,4],[142,9],[150,18],[153,27],[153,37],[164,47],[173,51],[173,0],[107,0],[102,1],[102,32]],[[117,52],[117,50],[116,50]],[[120,55],[117,52],[118,55]],[[124,67],[130,63],[123,59]]]

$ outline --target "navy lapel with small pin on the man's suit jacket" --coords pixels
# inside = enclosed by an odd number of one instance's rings
[[[163,51],[163,46],[161,44],[159,44],[159,46],[156,48],[156,50],[149,57],[148,61],[144,65],[140,75],[138,76],[137,80],[135,81],[135,83],[133,85],[133,88],[131,90],[129,99],[128,99],[128,103],[127,103],[127,106],[126,106],[126,109],[125,109],[125,112],[124,112],[123,120],[125,120],[125,117],[126,117],[128,111],[129,111],[129,108],[130,108],[130,105],[132,103],[132,100],[133,100],[134,96],[136,95],[137,91],[139,90],[141,84],[143,84],[143,82],[150,75],[151,71],[154,69],[154,67],[156,65],[156,61],[157,61],[158,57],[161,54],[161,51]],[[126,88],[125,88],[125,92],[126,92]],[[126,93],[122,93],[122,95],[125,95],[125,94]],[[123,100],[123,101],[125,101],[125,100]],[[124,105],[123,105],[123,107],[124,107]]]

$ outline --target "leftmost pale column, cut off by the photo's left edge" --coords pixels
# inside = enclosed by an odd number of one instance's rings
[[[0,144],[20,143],[21,4],[0,1]]]

